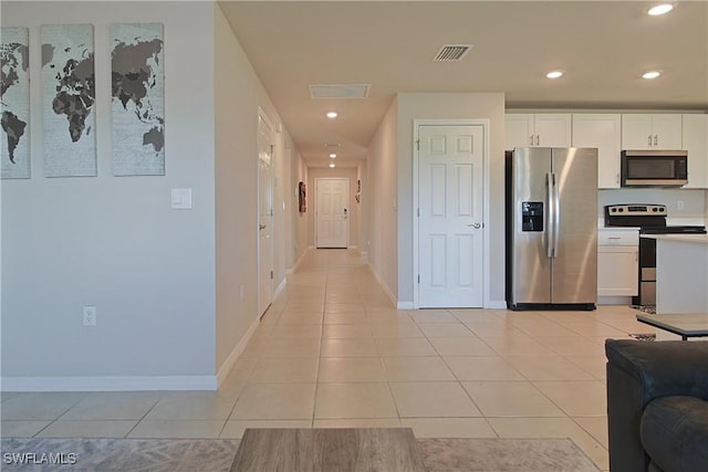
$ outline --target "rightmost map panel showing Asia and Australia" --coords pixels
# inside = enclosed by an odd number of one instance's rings
[[[111,25],[113,175],[165,175],[163,24]]]

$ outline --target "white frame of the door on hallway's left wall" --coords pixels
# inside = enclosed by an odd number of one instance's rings
[[[272,143],[272,151],[271,151],[271,162],[270,162],[270,218],[271,218],[271,237],[269,239],[270,241],[270,248],[266,248],[268,250],[268,252],[270,253],[270,271],[271,273],[273,273],[274,271],[274,263],[273,263],[273,240],[274,238],[274,225],[272,224],[274,221],[273,218],[273,157],[275,156],[275,146],[277,146],[277,139],[275,139],[275,128],[273,127],[273,123],[270,120],[270,118],[268,117],[268,115],[266,114],[266,112],[259,106],[258,107],[258,124],[256,126],[256,136],[257,136],[257,153],[256,153],[256,187],[257,187],[257,203],[256,203],[256,212],[257,212],[257,222],[256,222],[256,247],[257,247],[257,263],[256,263],[256,273],[257,273],[257,283],[256,283],[256,287],[257,287],[257,301],[256,301],[256,306],[257,306],[257,312],[258,315],[257,317],[260,318],[261,316],[263,316],[266,314],[266,312],[268,311],[268,308],[270,307],[270,305],[273,303],[273,294],[275,293],[275,287],[274,287],[274,280],[271,276],[271,285],[270,285],[270,303],[267,306],[261,306],[261,291],[263,287],[261,287],[261,234],[260,234],[260,229],[259,229],[259,224],[260,224],[260,216],[261,216],[261,179],[260,179],[260,158],[261,158],[261,139],[260,139],[260,132],[261,132],[261,125],[260,122],[263,122],[266,124],[266,126],[270,129],[270,140]]]

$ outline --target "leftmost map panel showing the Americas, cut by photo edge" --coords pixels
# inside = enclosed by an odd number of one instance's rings
[[[0,177],[30,178],[29,30],[0,28]]]

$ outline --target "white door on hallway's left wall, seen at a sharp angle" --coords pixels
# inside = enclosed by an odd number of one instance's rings
[[[273,129],[258,117],[258,314],[273,302]]]

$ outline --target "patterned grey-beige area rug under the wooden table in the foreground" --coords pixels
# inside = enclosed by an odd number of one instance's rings
[[[430,472],[600,470],[570,439],[418,439],[416,442]],[[239,440],[219,439],[3,438],[1,469],[8,472],[227,472],[239,443]]]

